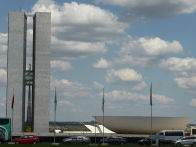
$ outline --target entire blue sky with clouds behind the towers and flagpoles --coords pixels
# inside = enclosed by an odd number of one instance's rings
[[[51,12],[50,120],[102,115],[196,119],[196,1],[2,0],[0,117],[5,116],[8,12]],[[28,18],[27,65],[32,53]],[[28,67],[28,66],[27,66]]]

